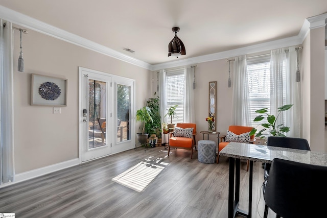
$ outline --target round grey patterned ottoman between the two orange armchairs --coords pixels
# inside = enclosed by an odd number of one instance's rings
[[[198,161],[216,163],[216,142],[212,140],[198,141]]]

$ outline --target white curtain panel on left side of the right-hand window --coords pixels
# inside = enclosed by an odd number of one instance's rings
[[[250,126],[249,85],[247,78],[246,55],[235,58],[233,78],[231,125]]]

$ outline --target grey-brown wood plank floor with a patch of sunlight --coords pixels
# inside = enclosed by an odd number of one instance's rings
[[[248,176],[241,161],[241,204]],[[253,164],[252,217],[263,217],[263,168]],[[228,159],[204,164],[197,152],[129,150],[0,189],[0,212],[16,217],[227,217]],[[269,210],[269,217],[274,213]]]

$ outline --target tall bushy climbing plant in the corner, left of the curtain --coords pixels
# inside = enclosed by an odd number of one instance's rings
[[[160,116],[160,106],[159,106],[159,96],[154,92],[154,97],[148,99],[147,106],[152,112],[152,123],[147,123],[145,126],[145,132],[151,134],[156,134],[158,139],[161,138],[161,116]]]

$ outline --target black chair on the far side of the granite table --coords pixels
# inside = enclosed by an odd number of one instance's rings
[[[282,147],[289,149],[300,149],[310,151],[308,140],[305,138],[292,138],[292,137],[281,137],[281,136],[269,136],[267,140],[267,146]],[[269,169],[271,164],[264,163],[264,183],[263,183],[263,193],[265,195],[265,183],[267,182],[269,176]],[[265,205],[265,214],[268,214],[268,206]]]

